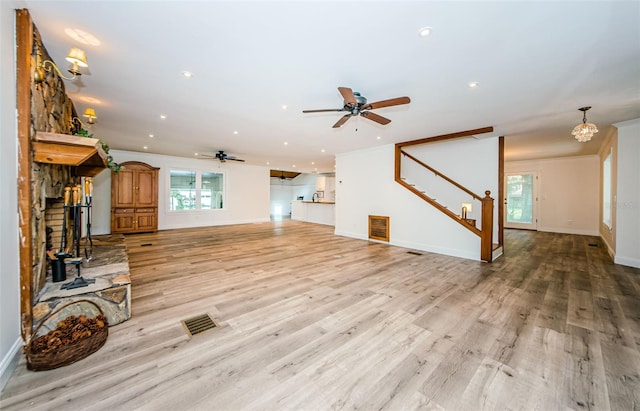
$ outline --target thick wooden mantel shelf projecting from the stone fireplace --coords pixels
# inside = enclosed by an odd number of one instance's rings
[[[107,154],[97,138],[36,132],[33,160],[74,166],[75,175],[94,177],[107,166]]]

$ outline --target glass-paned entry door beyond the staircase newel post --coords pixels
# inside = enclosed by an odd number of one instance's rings
[[[537,219],[537,183],[536,173],[505,174],[504,226],[536,230]]]

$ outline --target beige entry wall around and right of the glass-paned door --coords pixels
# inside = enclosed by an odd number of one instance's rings
[[[597,155],[513,161],[505,173],[537,172],[538,231],[597,236],[599,161]]]

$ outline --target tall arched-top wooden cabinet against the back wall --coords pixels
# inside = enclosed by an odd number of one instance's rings
[[[139,161],[111,173],[111,233],[158,229],[158,168]]]

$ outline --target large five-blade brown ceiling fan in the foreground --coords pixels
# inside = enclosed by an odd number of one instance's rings
[[[378,124],[389,124],[391,120],[386,117],[382,117],[379,114],[373,113],[370,110],[382,107],[399,106],[402,104],[409,104],[411,99],[409,97],[396,97],[389,100],[376,101],[375,103],[367,103],[367,98],[360,95],[359,92],[351,90],[349,87],[338,87],[338,91],[342,94],[344,99],[344,105],[338,109],[323,109],[323,110],[302,110],[303,113],[322,113],[326,111],[347,111],[345,114],[333,125],[333,128],[342,127],[350,117],[362,116],[369,120],[375,121]]]

